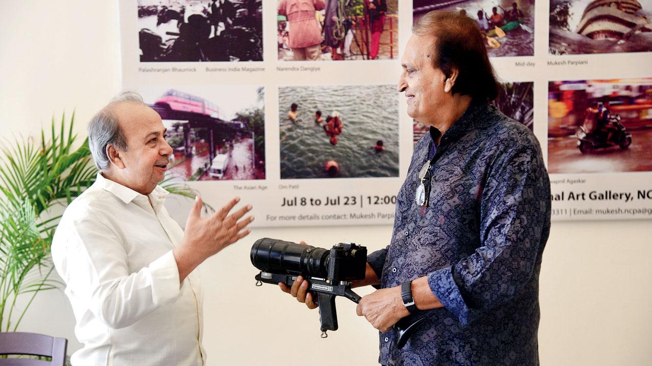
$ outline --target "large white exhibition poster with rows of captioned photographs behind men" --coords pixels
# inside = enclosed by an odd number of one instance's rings
[[[166,177],[258,226],[391,225],[428,127],[396,89],[413,22],[466,12],[541,143],[552,219],[652,217],[652,0],[121,0],[123,88],[157,111]],[[171,212],[174,216],[174,212]]]

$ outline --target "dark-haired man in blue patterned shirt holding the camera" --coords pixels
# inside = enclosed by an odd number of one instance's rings
[[[488,104],[498,86],[471,18],[426,14],[402,66],[408,115],[430,134],[398,192],[391,244],[368,256],[356,284],[379,288],[357,307],[380,331],[379,363],[538,365],[539,272],[550,232],[539,142]],[[303,282],[282,289],[316,307]],[[424,320],[399,349],[392,326],[404,317]]]

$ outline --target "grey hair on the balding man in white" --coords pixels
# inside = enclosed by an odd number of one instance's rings
[[[121,102],[136,102],[145,104],[143,97],[134,91],[123,91],[117,94],[109,104],[104,106],[88,124],[88,146],[93,155],[95,166],[100,171],[109,167],[110,161],[106,154],[108,145],[113,145],[118,150],[127,148],[125,135],[118,124],[118,117],[113,107]]]

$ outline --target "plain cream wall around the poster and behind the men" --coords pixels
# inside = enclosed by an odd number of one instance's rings
[[[117,2],[2,1],[0,10],[2,137],[35,134],[72,109],[83,135],[85,122],[119,91]],[[353,303],[338,300],[340,330],[319,339],[316,311],[273,286],[254,287],[248,251],[263,236],[373,250],[390,234],[391,227],[255,229],[207,260],[209,365],[376,364],[377,333],[355,317]],[[554,223],[541,273],[542,365],[652,364],[651,236],[650,221]],[[61,291],[40,294],[21,326],[67,337],[71,352],[80,347],[73,328]]]

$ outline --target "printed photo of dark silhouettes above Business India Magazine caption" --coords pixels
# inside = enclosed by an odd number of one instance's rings
[[[262,4],[138,0],[140,61],[263,61]]]

